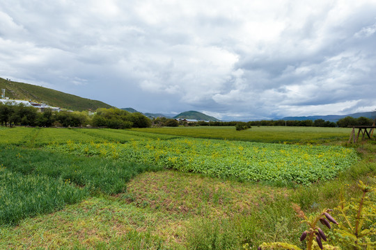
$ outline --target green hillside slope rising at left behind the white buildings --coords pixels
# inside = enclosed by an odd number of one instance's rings
[[[17,83],[0,78],[0,89],[6,90],[6,97],[10,99],[36,101],[49,106],[66,108],[68,110],[96,110],[97,108],[111,108],[102,101],[96,101],[66,94],[57,90],[43,88],[29,83]]]

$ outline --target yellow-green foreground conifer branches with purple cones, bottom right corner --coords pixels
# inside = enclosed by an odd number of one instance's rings
[[[308,230],[304,231],[300,236],[300,241],[306,240],[306,250],[312,249],[374,249],[376,245],[376,206],[374,202],[369,201],[368,194],[374,192],[376,188],[365,185],[363,181],[359,181],[357,188],[361,190],[361,197],[359,199],[352,199],[352,202],[347,203],[344,199],[340,201],[340,205],[335,208],[340,216],[340,223],[336,221],[329,212],[331,209],[324,209],[316,216],[306,217],[304,212],[294,205],[294,210],[298,217],[303,218],[302,222],[308,225]],[[331,229],[331,223],[338,225],[335,228],[336,233],[331,233],[332,244],[340,244],[340,247],[334,247],[329,244],[323,245],[322,241],[327,242],[328,238],[324,231],[318,227],[318,222],[327,228]],[[290,249],[301,250],[294,244],[288,242],[270,242],[263,243],[258,247],[262,249]]]

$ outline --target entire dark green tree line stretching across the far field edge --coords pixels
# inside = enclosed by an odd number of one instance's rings
[[[107,128],[148,128],[153,126],[235,126],[237,130],[251,128],[251,126],[317,126],[317,127],[347,127],[347,126],[371,126],[373,119],[367,117],[345,117],[338,122],[324,121],[324,119],[285,121],[285,120],[261,120],[251,122],[185,122],[166,117],[157,117],[150,120],[141,113],[130,113],[119,108],[98,108],[94,115],[88,112],[52,111],[45,109],[38,112],[37,108],[24,106],[20,103],[12,105],[0,103],[1,126],[41,126],[41,127],[80,127],[95,126]]]

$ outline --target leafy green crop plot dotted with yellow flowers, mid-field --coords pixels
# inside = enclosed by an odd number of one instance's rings
[[[210,176],[234,176],[247,181],[295,181],[303,184],[332,179],[358,160],[352,149],[344,147],[193,138],[132,140],[125,144],[68,142],[49,145],[47,148]]]

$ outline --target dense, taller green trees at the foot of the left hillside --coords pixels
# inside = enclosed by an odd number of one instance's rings
[[[98,108],[93,115],[88,112],[52,111],[0,103],[1,126],[80,127],[95,126],[107,128],[146,128],[151,121],[141,113],[129,113],[118,108]]]

